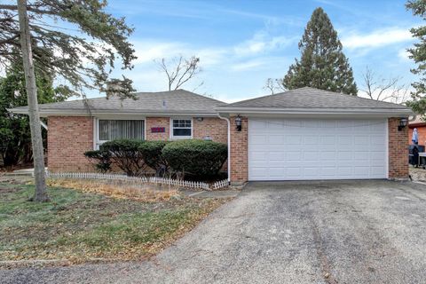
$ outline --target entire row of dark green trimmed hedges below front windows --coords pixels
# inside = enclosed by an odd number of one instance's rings
[[[175,173],[211,177],[222,168],[227,153],[225,144],[213,141],[115,139],[84,155],[101,172],[111,170],[114,163],[130,177],[142,175],[147,167],[155,170],[156,177],[163,177],[170,168]]]

